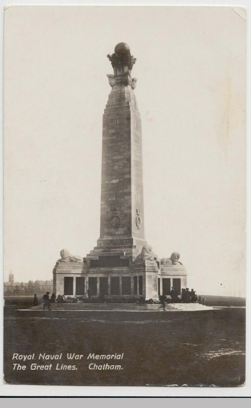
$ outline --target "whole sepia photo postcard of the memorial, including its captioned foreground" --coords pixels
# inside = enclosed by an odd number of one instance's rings
[[[5,11],[8,384],[243,384],[245,32],[231,7]]]

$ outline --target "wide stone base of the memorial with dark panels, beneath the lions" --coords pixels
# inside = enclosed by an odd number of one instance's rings
[[[53,271],[56,296],[144,297],[157,300],[170,296],[174,287],[178,296],[187,286],[183,265],[160,265],[156,260],[142,260],[136,248],[91,251],[84,262],[57,262]]]

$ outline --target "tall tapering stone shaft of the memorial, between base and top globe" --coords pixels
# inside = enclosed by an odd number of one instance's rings
[[[133,91],[136,80],[131,79],[128,68],[133,57],[130,53],[122,59],[117,54],[113,56],[114,75],[108,75],[112,91],[103,116],[98,246],[137,245],[138,242],[141,247],[144,241],[142,136]]]

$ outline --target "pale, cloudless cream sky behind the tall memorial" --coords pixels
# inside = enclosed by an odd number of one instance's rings
[[[245,295],[245,14],[230,7],[5,12],[5,281],[51,279],[99,238],[102,115],[126,42],[142,120],[144,223],[197,293]]]

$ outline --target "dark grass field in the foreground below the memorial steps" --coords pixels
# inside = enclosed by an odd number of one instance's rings
[[[208,298],[208,297],[207,297]],[[238,298],[237,298],[238,299]],[[219,299],[218,299],[219,300]],[[178,385],[240,386],[245,380],[245,309],[206,312],[18,312],[31,298],[7,299],[4,323],[4,372],[11,384],[51,385]],[[62,352],[53,360],[39,353]],[[83,354],[71,362],[66,353]],[[114,364],[121,370],[90,370],[89,353],[124,353]],[[13,353],[35,353],[13,370]],[[96,362],[96,361],[95,361]],[[20,362],[19,362],[20,363]],[[52,363],[52,370],[31,370],[30,364]],[[98,364],[113,364],[97,361]]]

